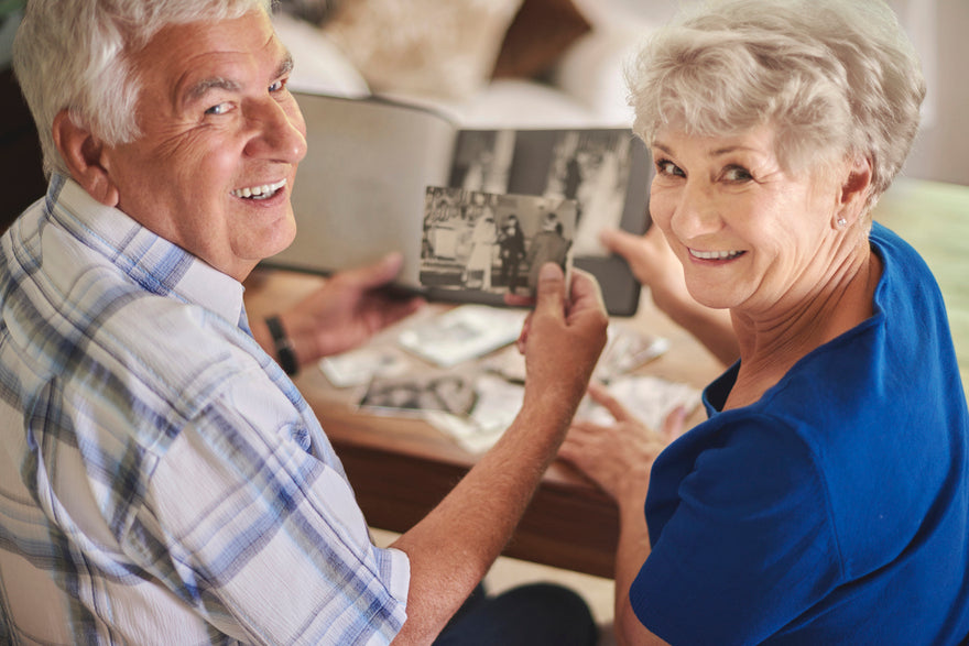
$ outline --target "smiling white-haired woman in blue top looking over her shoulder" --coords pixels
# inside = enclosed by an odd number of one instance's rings
[[[969,414],[939,289],[871,216],[924,96],[893,14],[711,4],[630,76],[682,272],[656,234],[607,242],[739,361],[675,440],[682,415],[653,433],[592,388],[617,424],[563,448],[620,506],[620,640],[965,643]]]

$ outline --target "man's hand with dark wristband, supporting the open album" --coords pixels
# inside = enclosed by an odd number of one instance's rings
[[[300,365],[350,350],[420,309],[423,299],[401,298],[384,289],[402,264],[401,254],[391,253],[373,264],[339,272],[303,300],[280,313]],[[273,350],[268,351],[274,354]]]

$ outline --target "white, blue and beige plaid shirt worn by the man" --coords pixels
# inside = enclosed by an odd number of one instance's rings
[[[0,643],[390,642],[406,556],[242,286],[58,176],[0,243]]]

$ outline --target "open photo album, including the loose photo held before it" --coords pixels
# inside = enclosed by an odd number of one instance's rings
[[[598,242],[650,226],[649,151],[631,130],[465,130],[425,107],[294,94],[297,234],[264,265],[326,275],[399,251],[395,288],[501,305],[551,261],[592,273],[610,314],[635,314],[639,282]]]

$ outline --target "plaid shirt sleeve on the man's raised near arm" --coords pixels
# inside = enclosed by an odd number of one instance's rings
[[[159,461],[131,549],[233,638],[389,643],[406,618],[406,555],[373,546],[341,469],[313,455],[277,388],[249,375],[225,393]]]

